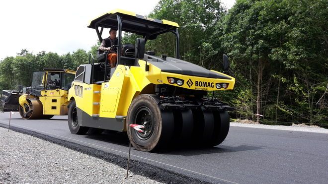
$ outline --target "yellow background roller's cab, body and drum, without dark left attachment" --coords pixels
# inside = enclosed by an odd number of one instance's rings
[[[71,81],[67,79],[66,73],[71,75]],[[22,118],[47,119],[54,115],[67,115],[69,104],[68,86],[74,79],[74,74],[75,71],[73,70],[51,68],[45,68],[43,72],[35,72],[33,80],[39,82],[37,83],[39,85],[25,88],[25,93],[20,95],[18,100],[20,106],[18,110]],[[52,76],[57,77],[56,84],[53,83]],[[61,80],[67,81],[60,83]],[[63,84],[67,86],[62,86]]]

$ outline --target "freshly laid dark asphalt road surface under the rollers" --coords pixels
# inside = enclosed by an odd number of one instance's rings
[[[6,126],[9,113],[0,113]],[[127,156],[124,133],[74,135],[67,116],[51,120],[22,120],[11,126],[57,139]],[[328,134],[231,126],[226,140],[213,148],[174,148],[156,153],[132,149],[131,159],[209,183],[328,183]]]

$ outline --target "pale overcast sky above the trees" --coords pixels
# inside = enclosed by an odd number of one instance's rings
[[[1,0],[0,60],[21,49],[60,55],[97,42],[89,20],[111,10],[125,9],[149,14],[159,0]],[[230,8],[235,0],[221,0]]]

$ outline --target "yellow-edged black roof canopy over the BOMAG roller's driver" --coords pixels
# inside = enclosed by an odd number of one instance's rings
[[[88,28],[116,28],[118,29],[117,15],[121,17],[122,31],[142,35],[144,38],[155,39],[157,35],[175,31],[179,25],[169,20],[159,20],[131,11],[115,9],[90,21]]]

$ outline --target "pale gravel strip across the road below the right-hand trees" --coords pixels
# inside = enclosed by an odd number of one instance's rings
[[[276,129],[276,130],[289,130],[289,131],[305,131],[314,133],[328,133],[328,129],[321,128],[318,126],[307,126],[307,125],[267,125],[267,124],[252,124],[252,123],[236,123],[231,122],[230,126],[240,126],[240,127],[251,127],[251,128],[265,128],[265,129]]]

